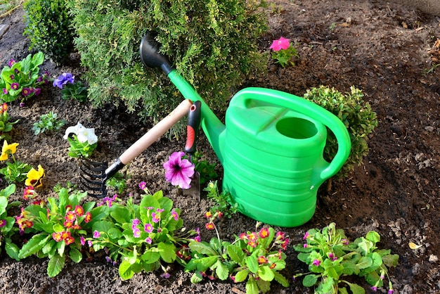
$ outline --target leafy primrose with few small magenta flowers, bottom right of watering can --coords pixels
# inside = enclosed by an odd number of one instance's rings
[[[298,259],[309,264],[309,273],[296,274],[294,278],[304,276],[302,284],[306,287],[318,286],[315,293],[348,293],[349,286],[354,294],[364,294],[365,290],[356,283],[344,280],[344,276],[357,275],[372,285],[373,290],[384,285],[390,267],[396,267],[399,255],[392,255],[391,250],[377,248],[380,235],[369,231],[365,237],[349,242],[342,229],[336,229],[331,223],[324,229],[311,229],[304,236],[306,243],[297,244],[294,249],[299,252]],[[389,277],[388,277],[389,280]],[[393,293],[389,280],[389,291]]]

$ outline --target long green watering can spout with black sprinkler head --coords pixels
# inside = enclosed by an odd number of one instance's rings
[[[214,115],[202,97],[195,91],[194,87],[172,68],[168,58],[159,52],[159,47],[160,44],[155,40],[155,34],[153,32],[145,34],[145,37],[141,40],[141,48],[139,51],[142,63],[149,68],[161,68],[176,88],[181,91],[183,97],[191,101],[200,101],[202,103],[200,107],[202,111],[200,124],[220,162],[223,162],[224,155],[221,151],[224,150],[224,148],[221,138],[224,137],[225,125]]]

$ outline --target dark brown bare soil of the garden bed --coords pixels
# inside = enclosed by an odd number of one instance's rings
[[[309,222],[277,229],[283,229],[292,244],[302,243],[308,229],[330,222],[344,229],[351,240],[375,230],[382,237],[379,247],[400,256],[399,266],[389,272],[396,293],[440,293],[440,70],[434,68],[439,63],[439,16],[376,0],[273,0],[269,4],[270,30],[258,40],[261,51],[268,51],[271,41],[282,36],[295,44],[299,58],[296,66],[287,68],[268,60],[267,72],[250,77],[243,87],[267,87],[302,96],[306,89],[320,85],[342,92],[355,86],[363,90],[379,120],[369,137],[370,153],[364,164],[342,181],[334,181],[330,191],[319,191],[316,213]],[[21,60],[29,53],[29,40],[22,36],[22,14],[18,8],[0,19],[8,26],[0,39],[1,68],[11,58]],[[80,79],[83,70],[75,54],[68,65],[58,67],[47,60],[42,68],[53,78],[72,72]],[[82,122],[95,127],[100,137],[97,157],[107,162],[152,127],[151,122],[142,124],[136,113],[123,108],[94,109],[89,103],[65,101],[53,87],[44,88],[23,108],[18,102],[11,103],[9,111],[13,120],[20,120],[12,134],[13,141],[20,144],[16,158],[34,167],[41,164],[46,171],[44,186],[38,190],[42,196],[56,196],[53,186],[57,183],[78,184],[79,169],[67,156],[65,128],[51,135],[33,134],[32,124],[40,115],[53,111],[67,120],[67,126]],[[128,198],[131,193],[139,201],[138,183],[146,181],[150,191],[164,191],[181,208],[188,229],[202,228],[202,238],[208,240],[212,232],[205,230],[203,214],[212,203],[183,196],[164,180],[162,163],[183,146],[183,139],[166,137],[153,143],[129,165],[128,188],[119,197]],[[205,136],[198,146],[207,160],[216,162]],[[220,165],[218,172],[221,174]],[[4,186],[6,183],[1,184]],[[10,199],[22,200],[23,188],[18,185]],[[252,231],[254,226],[254,220],[237,214],[220,222],[219,230],[223,238],[231,240],[233,234]],[[410,249],[410,242],[421,247]],[[245,293],[243,283],[232,281],[193,285],[191,274],[178,264],[170,265],[169,279],[154,272],[136,274],[129,281],[122,281],[117,267],[103,257],[68,262],[55,278],[48,278],[47,264],[48,260],[37,257],[17,262],[1,255],[0,293]],[[290,247],[283,274],[291,279],[298,271],[306,271],[306,266]],[[352,281],[370,293],[361,279]],[[289,288],[273,282],[270,293],[313,293],[313,289],[304,288],[299,279]]]

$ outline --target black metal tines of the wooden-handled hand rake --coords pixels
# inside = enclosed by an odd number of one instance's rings
[[[98,198],[107,196],[107,186],[105,186],[107,179],[105,170],[107,168],[107,162],[96,162],[85,158],[81,161],[81,165],[79,165],[79,169],[82,171],[80,182],[85,190],[91,191],[89,195]]]

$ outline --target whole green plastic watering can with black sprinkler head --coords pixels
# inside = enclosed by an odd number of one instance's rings
[[[273,226],[308,222],[319,186],[341,169],[350,153],[349,133],[341,120],[304,98],[250,87],[233,96],[222,124],[157,46],[147,34],[141,41],[141,59],[149,67],[162,68],[185,98],[202,103],[202,129],[224,167],[223,189],[238,210]],[[330,163],[323,158],[326,127],[338,142]]]

